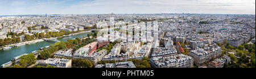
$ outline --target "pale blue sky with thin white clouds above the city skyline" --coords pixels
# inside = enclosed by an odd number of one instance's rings
[[[255,14],[255,0],[0,0],[0,15]]]

